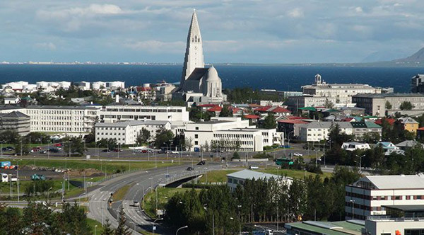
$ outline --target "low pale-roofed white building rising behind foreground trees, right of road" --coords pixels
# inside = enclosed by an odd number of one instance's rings
[[[242,170],[228,174],[227,185],[231,192],[234,192],[238,185],[245,184],[245,180],[270,180],[271,178],[278,180],[280,183],[286,183],[287,185],[293,183],[293,178],[290,177],[277,176],[259,171]]]

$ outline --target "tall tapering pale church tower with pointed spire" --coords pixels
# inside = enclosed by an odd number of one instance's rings
[[[200,35],[199,23],[197,22],[196,10],[193,12],[192,23],[187,35],[187,47],[184,57],[184,67],[182,68],[182,77],[179,88],[182,88],[184,81],[192,74],[195,68],[204,68],[203,46]]]

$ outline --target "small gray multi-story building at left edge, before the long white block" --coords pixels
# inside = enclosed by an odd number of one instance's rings
[[[13,111],[0,113],[0,130],[16,130],[20,136],[30,133],[30,116]]]

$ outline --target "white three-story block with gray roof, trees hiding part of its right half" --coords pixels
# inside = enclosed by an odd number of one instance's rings
[[[150,140],[153,140],[160,130],[170,130],[171,123],[169,121],[98,122],[95,124],[95,140],[116,139],[118,144],[136,144],[136,138],[143,128],[151,133]]]

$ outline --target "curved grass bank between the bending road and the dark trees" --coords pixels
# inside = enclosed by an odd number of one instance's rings
[[[158,209],[165,209],[167,201],[175,195],[175,193],[184,193],[191,188],[158,188]],[[199,189],[196,189],[199,190]],[[199,190],[200,191],[200,190]],[[153,190],[151,193],[147,193],[144,197],[144,202],[141,203],[141,207],[144,209],[146,214],[151,218],[156,218],[156,193]]]

